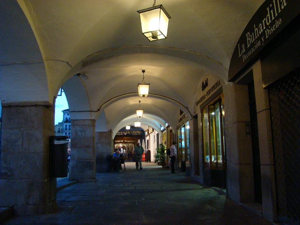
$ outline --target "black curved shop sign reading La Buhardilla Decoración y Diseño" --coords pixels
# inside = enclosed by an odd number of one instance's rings
[[[299,0],[266,0],[250,19],[235,46],[228,73],[232,82],[246,65],[259,57],[259,52],[300,13]],[[246,68],[245,68],[246,67]]]

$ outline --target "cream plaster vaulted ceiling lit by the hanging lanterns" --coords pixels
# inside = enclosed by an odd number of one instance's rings
[[[63,85],[72,119],[104,115],[102,127],[114,130],[141,100],[146,113],[176,126],[179,109],[191,118],[203,76],[226,82],[238,38],[262,2],[158,0],[172,18],[167,39],[149,42],[137,10],[151,7],[150,0],[3,0],[1,102],[52,104]],[[37,63],[23,64],[28,61]],[[150,83],[147,98],[137,97],[142,69]],[[74,76],[79,72],[89,79]],[[18,82],[2,85],[7,74]],[[28,94],[34,88],[39,95]]]

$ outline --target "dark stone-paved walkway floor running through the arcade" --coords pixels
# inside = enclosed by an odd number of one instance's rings
[[[13,217],[4,224],[271,224],[184,173],[153,163],[143,163],[143,170],[132,162],[125,166],[119,173],[97,173],[96,182],[59,190],[53,214]]]

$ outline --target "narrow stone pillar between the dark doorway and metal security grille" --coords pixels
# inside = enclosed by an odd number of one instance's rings
[[[262,88],[260,61],[253,65],[253,79],[259,136],[260,170],[262,181],[262,214],[268,221],[277,220],[276,187],[272,146],[272,129],[268,90]]]

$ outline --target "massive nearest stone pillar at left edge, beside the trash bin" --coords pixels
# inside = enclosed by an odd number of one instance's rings
[[[56,207],[56,178],[49,177],[54,107],[2,107],[0,206],[14,214],[44,214]]]

